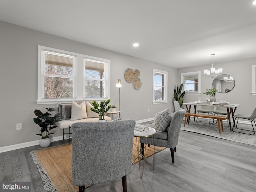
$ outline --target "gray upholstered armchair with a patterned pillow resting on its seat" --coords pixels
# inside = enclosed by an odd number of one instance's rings
[[[185,114],[186,111],[184,109],[177,108],[172,114],[172,120],[167,130],[165,132],[156,132],[154,134],[154,146],[170,148],[172,163],[174,163],[174,152],[176,152],[176,146],[180,135],[180,126]],[[146,126],[153,127],[152,124],[147,124]],[[146,138],[140,138],[140,142],[142,143],[142,148],[144,147],[144,144],[152,145],[151,139],[146,140]]]

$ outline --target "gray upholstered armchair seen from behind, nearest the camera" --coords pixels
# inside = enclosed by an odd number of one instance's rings
[[[72,124],[72,181],[84,192],[85,185],[109,182],[126,175],[132,166],[135,120]]]

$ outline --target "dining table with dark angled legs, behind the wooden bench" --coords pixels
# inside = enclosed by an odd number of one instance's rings
[[[214,107],[225,107],[227,109],[227,116],[228,116],[228,122],[229,122],[229,127],[230,131],[232,131],[231,128],[231,121],[230,121],[230,116],[232,115],[233,123],[235,125],[235,119],[234,119],[234,113],[236,112],[236,108],[240,106],[240,104],[221,104],[220,102],[213,102],[211,104],[205,104],[203,102],[188,102],[188,103],[183,103],[186,106],[186,109],[190,113],[191,106],[194,106],[194,113],[196,113],[196,107],[197,106],[214,106]],[[190,116],[188,117],[188,121],[190,120]]]

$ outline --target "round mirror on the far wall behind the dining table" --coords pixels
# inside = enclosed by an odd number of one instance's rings
[[[216,88],[219,93],[227,93],[234,88],[235,80],[230,75],[219,75],[213,80],[212,86]]]

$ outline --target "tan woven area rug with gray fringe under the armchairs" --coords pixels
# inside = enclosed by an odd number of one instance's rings
[[[134,144],[136,144],[136,138],[134,138]],[[155,147],[155,153],[164,149],[164,147]],[[72,183],[71,153],[71,144],[70,146],[64,144],[30,152],[43,179],[45,190],[58,192],[79,191],[79,187],[74,186]],[[151,155],[152,148],[147,147],[145,156],[148,157]],[[138,159],[136,159],[137,156],[137,148],[133,146],[132,162],[138,162]]]

